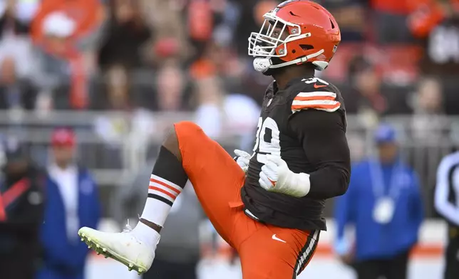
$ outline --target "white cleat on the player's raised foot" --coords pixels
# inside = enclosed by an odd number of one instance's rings
[[[123,233],[104,233],[83,227],[78,231],[78,235],[88,244],[88,248],[102,254],[105,258],[118,260],[126,265],[129,271],[135,270],[139,275],[150,269],[158,244],[141,241],[130,229]]]

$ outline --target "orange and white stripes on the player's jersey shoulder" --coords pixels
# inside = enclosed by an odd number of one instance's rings
[[[324,110],[334,112],[341,103],[336,100],[336,93],[329,91],[300,92],[293,99],[292,112],[300,110]]]

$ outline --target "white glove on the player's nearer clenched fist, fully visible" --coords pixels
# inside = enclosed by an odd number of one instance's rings
[[[295,174],[279,156],[267,154],[266,158],[267,162],[262,167],[258,181],[263,189],[297,198],[309,193],[309,174]]]

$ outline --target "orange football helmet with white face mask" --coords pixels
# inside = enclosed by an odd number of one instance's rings
[[[249,56],[255,70],[312,63],[325,70],[341,42],[334,17],[313,1],[289,0],[264,14],[260,31],[249,37]]]

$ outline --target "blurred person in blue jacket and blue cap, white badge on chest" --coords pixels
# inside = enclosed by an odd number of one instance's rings
[[[359,279],[405,279],[423,221],[421,187],[399,156],[393,127],[380,125],[374,139],[377,156],[354,164],[349,190],[336,200],[335,251]],[[346,225],[354,226],[354,241]]]

